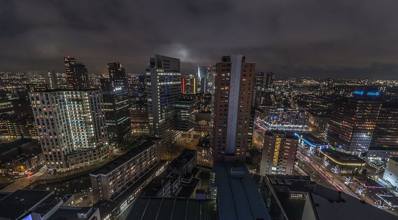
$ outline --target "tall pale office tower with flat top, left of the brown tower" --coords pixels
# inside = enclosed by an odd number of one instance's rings
[[[174,103],[181,96],[180,60],[155,55],[150,58],[147,75],[147,100],[150,133],[163,138],[162,147],[171,145],[181,135],[174,130]]]

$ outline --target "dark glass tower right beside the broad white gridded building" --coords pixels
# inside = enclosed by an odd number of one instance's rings
[[[131,136],[129,97],[121,87],[107,91],[102,90],[108,142],[113,148],[120,148]]]

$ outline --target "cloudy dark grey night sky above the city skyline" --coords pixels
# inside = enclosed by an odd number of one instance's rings
[[[41,3],[40,3],[41,2]],[[398,79],[397,0],[0,0],[0,71],[89,73],[122,62],[144,73],[154,54],[182,72],[243,54],[277,77]]]

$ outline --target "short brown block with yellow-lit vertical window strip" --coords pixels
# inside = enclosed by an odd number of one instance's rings
[[[292,132],[278,130],[265,132],[260,175],[293,175],[298,144],[299,140]]]

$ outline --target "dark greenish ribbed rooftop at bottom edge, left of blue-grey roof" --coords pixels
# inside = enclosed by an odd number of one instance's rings
[[[216,201],[143,197],[126,220],[217,220]]]

